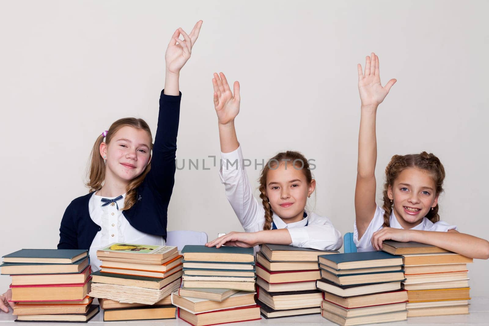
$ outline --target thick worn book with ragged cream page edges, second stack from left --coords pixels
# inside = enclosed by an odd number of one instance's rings
[[[123,301],[131,304],[156,304],[180,287],[180,279],[160,289],[149,289],[128,285],[92,283],[90,296],[95,298]]]

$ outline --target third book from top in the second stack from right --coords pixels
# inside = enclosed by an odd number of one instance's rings
[[[347,274],[334,275],[321,269],[321,277],[338,285],[357,285],[367,283],[383,283],[404,281],[403,271],[368,273],[368,274]]]

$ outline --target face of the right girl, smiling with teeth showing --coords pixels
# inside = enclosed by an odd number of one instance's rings
[[[404,169],[387,190],[394,200],[394,215],[404,229],[418,225],[438,203],[436,185],[431,175],[420,169]]]

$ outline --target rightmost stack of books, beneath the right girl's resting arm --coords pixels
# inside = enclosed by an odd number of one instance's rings
[[[418,242],[387,240],[382,250],[402,257],[408,317],[468,314],[471,258]]]

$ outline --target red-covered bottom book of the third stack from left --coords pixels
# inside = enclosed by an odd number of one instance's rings
[[[239,308],[202,312],[199,314],[193,314],[187,310],[178,309],[178,317],[193,326],[248,322],[261,319],[260,306],[258,304],[247,305]]]

